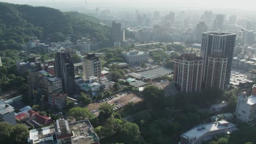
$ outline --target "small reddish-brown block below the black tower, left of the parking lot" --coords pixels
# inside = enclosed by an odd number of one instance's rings
[[[67,94],[52,93],[48,95],[48,104],[51,107],[56,107],[59,110],[63,110],[66,105]]]

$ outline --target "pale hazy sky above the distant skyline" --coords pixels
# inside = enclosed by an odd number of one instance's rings
[[[26,3],[33,5],[70,4],[82,5],[86,0],[0,0],[10,3]],[[230,8],[255,10],[256,0],[87,0],[88,6],[98,7],[130,7],[130,8],[201,8],[216,9]]]

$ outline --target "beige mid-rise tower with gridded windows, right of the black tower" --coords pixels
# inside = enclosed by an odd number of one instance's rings
[[[83,80],[88,80],[91,76],[101,76],[101,61],[95,53],[88,53],[83,61]]]

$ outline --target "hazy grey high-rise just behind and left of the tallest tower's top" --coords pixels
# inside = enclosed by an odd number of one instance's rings
[[[205,25],[205,22],[199,22],[196,25],[195,32],[194,32],[194,40],[196,43],[201,44],[202,41],[202,33],[207,32],[207,26]]]

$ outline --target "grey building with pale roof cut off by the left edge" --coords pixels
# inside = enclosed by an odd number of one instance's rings
[[[15,112],[13,106],[0,100],[0,122],[16,124]]]

